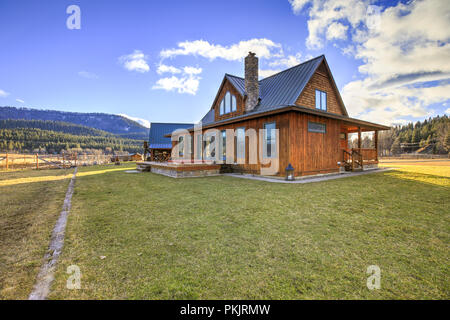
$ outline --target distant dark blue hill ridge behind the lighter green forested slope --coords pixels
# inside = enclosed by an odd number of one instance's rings
[[[126,136],[129,139],[147,139],[148,128],[124,116],[106,113],[79,113],[29,108],[0,107],[0,120],[43,120],[68,122]]]

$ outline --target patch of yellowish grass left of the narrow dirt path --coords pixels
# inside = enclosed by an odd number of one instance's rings
[[[71,172],[0,173],[0,299],[30,294]]]

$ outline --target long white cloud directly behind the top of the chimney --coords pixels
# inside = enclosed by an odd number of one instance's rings
[[[160,55],[162,58],[192,55],[209,60],[221,58],[228,61],[239,61],[247,56],[249,51],[256,53],[259,58],[265,59],[282,55],[281,44],[265,38],[244,40],[229,46],[211,44],[205,40],[184,41],[178,43],[177,48],[162,50]]]

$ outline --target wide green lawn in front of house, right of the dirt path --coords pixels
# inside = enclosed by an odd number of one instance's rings
[[[450,298],[445,167],[294,185],[130,168],[80,168],[50,298]]]

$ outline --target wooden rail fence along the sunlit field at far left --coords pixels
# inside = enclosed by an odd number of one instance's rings
[[[0,153],[0,171],[17,169],[64,169],[111,162],[105,154],[17,154]]]

